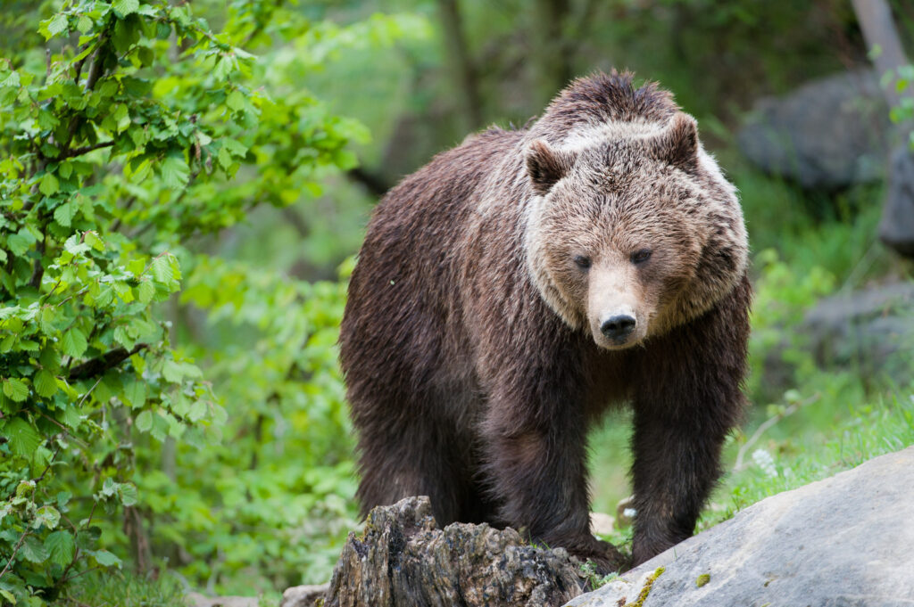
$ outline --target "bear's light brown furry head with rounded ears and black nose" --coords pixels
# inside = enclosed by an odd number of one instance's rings
[[[542,297],[608,350],[695,319],[734,288],[748,242],[696,121],[608,122],[526,144],[527,265]]]

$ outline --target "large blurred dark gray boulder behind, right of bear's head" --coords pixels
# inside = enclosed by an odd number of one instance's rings
[[[873,70],[813,80],[752,110],[737,141],[766,173],[826,190],[885,176],[893,131]]]

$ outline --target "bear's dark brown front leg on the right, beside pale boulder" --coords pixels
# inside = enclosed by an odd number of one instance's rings
[[[632,566],[692,535],[739,422],[749,282],[717,308],[653,340],[634,365]]]

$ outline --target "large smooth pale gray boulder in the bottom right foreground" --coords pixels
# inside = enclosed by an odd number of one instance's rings
[[[914,447],[769,497],[568,607],[910,607]]]

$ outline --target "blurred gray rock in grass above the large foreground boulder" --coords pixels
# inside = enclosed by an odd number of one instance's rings
[[[914,352],[914,283],[898,283],[824,298],[803,320],[816,361],[866,375],[910,381]]]

